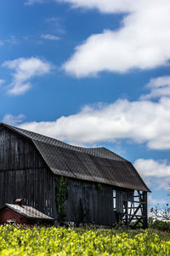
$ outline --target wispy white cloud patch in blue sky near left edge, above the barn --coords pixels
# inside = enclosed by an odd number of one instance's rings
[[[12,82],[8,87],[8,94],[15,96],[24,94],[26,90],[31,88],[30,79],[47,74],[52,69],[52,65],[48,61],[42,61],[35,57],[5,61],[3,67],[14,70]]]

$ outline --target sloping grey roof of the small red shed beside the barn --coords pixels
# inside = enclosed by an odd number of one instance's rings
[[[51,220],[53,221],[54,218],[49,217],[48,215],[37,211],[33,207],[28,207],[28,206],[19,206],[19,205],[14,205],[14,204],[5,204],[5,207],[8,207],[14,212],[19,212],[21,215],[25,216],[26,218],[34,218],[34,219],[42,219],[42,220]]]

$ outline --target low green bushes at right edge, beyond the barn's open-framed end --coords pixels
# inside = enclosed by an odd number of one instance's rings
[[[152,217],[148,218],[148,226],[154,230],[161,230],[170,233],[170,222],[169,221],[162,221],[159,219],[154,219]]]

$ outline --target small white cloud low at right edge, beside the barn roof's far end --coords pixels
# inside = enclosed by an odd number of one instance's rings
[[[138,159],[134,166],[142,177],[170,177],[170,164],[167,160]]]

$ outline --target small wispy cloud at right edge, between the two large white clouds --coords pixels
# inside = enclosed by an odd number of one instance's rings
[[[140,99],[147,100],[160,96],[170,96],[170,76],[164,76],[156,79],[150,79],[146,85],[151,91],[149,94],[141,96]]]

